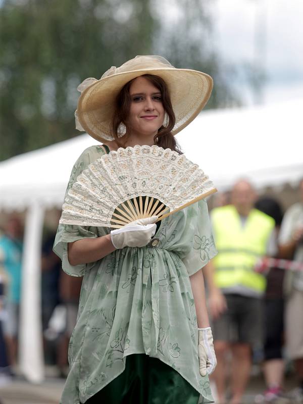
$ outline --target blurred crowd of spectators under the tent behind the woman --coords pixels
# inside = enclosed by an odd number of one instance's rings
[[[303,180],[299,190],[301,199],[283,215],[276,199],[258,198],[252,185],[240,180],[211,211],[218,255],[204,275],[218,362],[212,378],[220,404],[242,402],[252,360],[260,352],[266,391],[257,401],[303,402],[303,271],[289,265],[303,264]],[[53,234],[44,237],[41,322],[45,361],[65,377],[81,277],[61,270],[53,243]],[[207,254],[207,240],[204,247]],[[277,260],[262,266],[262,257]],[[262,271],[256,271],[256,263]],[[0,235],[0,384],[14,375],[18,361],[21,282],[22,225],[13,215]],[[58,308],[64,310],[64,325],[52,334]],[[286,360],[293,362],[297,378],[292,392],[284,390]]]

